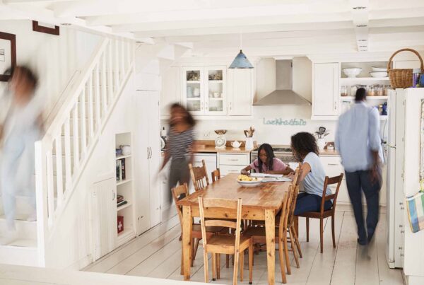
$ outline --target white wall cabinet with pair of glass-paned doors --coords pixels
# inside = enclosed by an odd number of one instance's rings
[[[182,101],[193,115],[226,115],[225,66],[182,68]]]

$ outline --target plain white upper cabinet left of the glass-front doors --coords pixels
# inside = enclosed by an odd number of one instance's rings
[[[181,103],[181,69],[178,66],[170,67],[161,76],[162,88],[160,89],[160,117],[170,115],[170,105]]]

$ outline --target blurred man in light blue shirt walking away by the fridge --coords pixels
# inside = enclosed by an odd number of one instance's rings
[[[335,145],[341,155],[346,184],[358,226],[358,243],[370,243],[379,219],[379,190],[382,185],[382,145],[379,113],[365,103],[366,91],[359,88],[355,105],[338,119]],[[366,230],[362,195],[367,200]]]

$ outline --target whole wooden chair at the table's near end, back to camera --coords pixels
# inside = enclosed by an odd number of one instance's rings
[[[245,260],[245,250],[249,250],[249,284],[252,284],[253,267],[253,243],[252,238],[241,234],[242,220],[242,199],[203,199],[199,197],[199,211],[201,220],[201,233],[204,248],[204,272],[205,282],[208,283],[208,253],[212,253],[212,280],[217,278],[217,268],[220,268],[220,255],[234,255],[234,270],[232,284],[237,284],[237,273],[240,259],[240,281],[243,281],[243,265]],[[216,211],[216,213],[226,213],[237,211],[237,221],[223,219],[205,219],[205,211]],[[232,235],[211,235],[208,237],[206,228],[210,226],[224,226],[235,229]]]

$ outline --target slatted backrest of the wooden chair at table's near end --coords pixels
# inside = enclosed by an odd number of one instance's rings
[[[230,211],[237,210],[237,219],[235,222],[222,221],[219,219],[205,220],[205,210],[208,208],[221,208]],[[235,252],[239,251],[240,248],[240,232],[241,232],[241,221],[242,221],[242,199],[229,200],[229,199],[203,199],[199,197],[199,212],[200,212],[200,223],[201,223],[201,236],[204,247],[206,248],[208,240],[206,237],[206,226],[224,226],[229,228],[235,228]],[[214,223],[216,221],[217,223]]]

